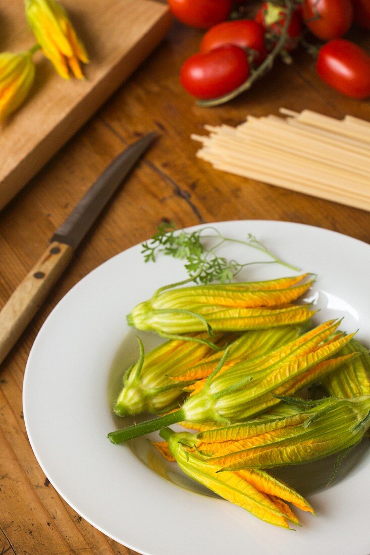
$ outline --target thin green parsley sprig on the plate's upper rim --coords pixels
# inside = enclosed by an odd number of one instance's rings
[[[213,246],[208,246],[209,243]],[[259,260],[245,264],[241,264],[237,260],[228,260],[216,254],[217,249],[225,243],[249,246],[261,251],[271,260]],[[185,260],[185,268],[189,279],[184,282],[194,281],[204,285],[213,281],[221,283],[232,281],[243,268],[252,264],[281,264],[291,270],[299,271],[296,266],[292,266],[275,256],[254,235],[248,234],[246,241],[230,239],[221,235],[212,226],[196,231],[184,231],[183,229],[176,230],[173,222],[161,223],[152,239],[142,244],[142,254],[145,262],[155,262],[160,254]]]

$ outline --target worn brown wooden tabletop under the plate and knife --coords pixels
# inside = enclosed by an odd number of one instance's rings
[[[161,134],[0,369],[0,555],[134,553],[98,532],[58,496],[34,458],[23,422],[22,380],[31,345],[49,312],[84,275],[147,239],[164,219],[178,227],[229,219],[296,221],[370,242],[365,211],[213,170],[195,157],[198,145],[189,139],[206,123],[236,125],[248,113],[277,113],[280,106],[370,120],[369,103],[329,89],[317,78],[314,62],[301,53],[291,67],[278,64],[270,77],[232,103],[197,108],[181,89],[178,73],[200,37],[176,24],[128,83],[0,214],[4,304],[107,164],[141,134],[153,129]],[[358,31],[358,38],[370,47],[365,33]]]

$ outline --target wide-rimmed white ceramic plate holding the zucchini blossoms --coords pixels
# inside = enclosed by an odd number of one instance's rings
[[[317,273],[311,295],[321,308],[316,320],[344,316],[342,328],[359,328],[358,338],[370,346],[369,245],[294,223],[214,225],[232,238],[253,233],[274,253]],[[156,264],[144,264],[140,251],[140,245],[124,251],[79,282],[32,347],[24,417],[33,451],[53,486],[93,526],[147,555],[369,553],[370,450],[352,457],[335,486],[308,496],[319,517],[300,512],[303,527],[289,532],[193,485],[175,465],[162,461],[146,438],[130,446],[107,440],[117,426],[109,403],[124,368],[137,357],[136,333],[126,314],[157,287],[185,277],[180,261],[162,256]],[[258,260],[243,246],[229,248],[226,255]],[[241,278],[290,274],[282,266],[261,265]],[[147,349],[156,344],[152,335],[141,337]],[[316,488],[321,483],[321,467],[295,468]]]

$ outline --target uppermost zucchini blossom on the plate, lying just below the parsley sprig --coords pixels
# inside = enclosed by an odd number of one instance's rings
[[[149,301],[138,304],[127,316],[130,326],[174,334],[197,331],[247,331],[300,324],[312,316],[309,306],[291,302],[303,295],[313,279],[295,278],[232,284],[194,285],[159,289]],[[297,285],[298,284],[298,285]],[[173,337],[174,339],[174,337]]]

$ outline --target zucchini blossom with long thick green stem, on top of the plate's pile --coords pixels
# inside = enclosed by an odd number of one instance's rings
[[[182,408],[166,416],[139,423],[108,434],[121,443],[170,424],[189,422],[239,422],[279,403],[280,396],[291,396],[319,377],[357,356],[335,355],[352,335],[334,334],[339,322],[333,320],[308,331],[266,355],[247,360],[220,372],[227,359],[227,347],[216,369],[201,391],[184,401]]]

